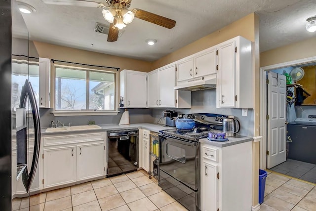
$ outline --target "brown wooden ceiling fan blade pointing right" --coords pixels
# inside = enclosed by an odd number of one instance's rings
[[[132,12],[135,14],[136,18],[157,24],[159,26],[163,26],[165,28],[171,29],[176,25],[176,21],[171,20],[169,18],[147,12],[142,9],[135,8],[132,10]]]

